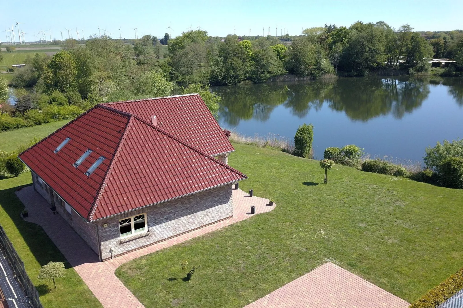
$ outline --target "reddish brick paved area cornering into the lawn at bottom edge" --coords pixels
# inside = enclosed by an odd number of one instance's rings
[[[245,308],[408,308],[380,287],[325,263]]]

